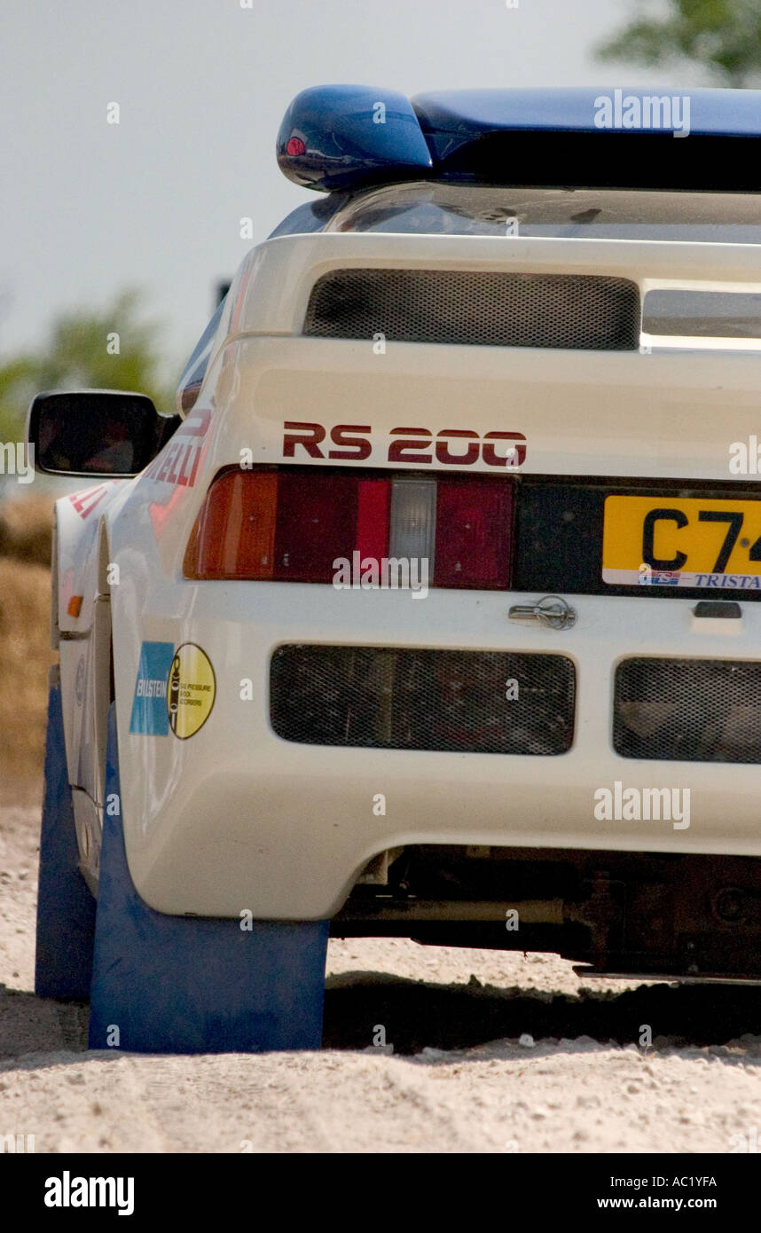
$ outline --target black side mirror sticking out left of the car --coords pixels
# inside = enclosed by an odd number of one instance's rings
[[[139,475],[180,424],[150,398],[121,390],[38,393],[26,429],[35,470],[49,475]]]

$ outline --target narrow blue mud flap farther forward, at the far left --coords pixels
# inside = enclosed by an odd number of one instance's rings
[[[74,806],[63,739],[58,671],[51,672],[44,747],[44,803],[39,836],[37,951],[35,993],[38,997],[90,994],[95,899],[79,872]]]

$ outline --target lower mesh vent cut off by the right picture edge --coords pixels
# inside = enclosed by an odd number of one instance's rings
[[[761,663],[625,660],[613,745],[627,758],[761,762]]]

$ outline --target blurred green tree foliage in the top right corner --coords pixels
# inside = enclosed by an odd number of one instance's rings
[[[760,0],[666,0],[665,16],[629,22],[597,57],[648,68],[692,60],[719,85],[752,85],[761,81]]]

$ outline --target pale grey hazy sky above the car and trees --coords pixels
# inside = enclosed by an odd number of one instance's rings
[[[640,11],[639,0],[0,0],[0,361],[39,346],[57,313],[133,286],[179,375],[216,282],[250,248],[239,219],[259,243],[311,196],[274,154],[306,86],[705,84],[697,68],[675,78],[594,60],[594,44]]]

